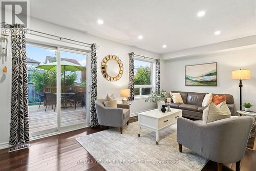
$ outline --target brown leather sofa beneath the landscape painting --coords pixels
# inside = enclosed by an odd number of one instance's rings
[[[206,93],[196,93],[196,92],[179,92],[172,91],[173,93],[180,93],[181,98],[184,102],[182,103],[170,103],[171,108],[182,109],[182,117],[194,118],[202,120],[203,110],[205,107],[202,106],[202,102]],[[230,94],[213,94],[213,96],[225,95],[227,100],[228,108],[233,115],[234,112],[234,99]]]

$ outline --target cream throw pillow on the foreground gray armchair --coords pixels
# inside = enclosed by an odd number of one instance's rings
[[[214,103],[210,103],[208,107],[203,111],[203,123],[210,123],[217,120],[230,118],[231,112],[228,109],[226,101],[215,105]]]

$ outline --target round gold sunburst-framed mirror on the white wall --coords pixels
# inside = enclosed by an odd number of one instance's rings
[[[102,59],[101,73],[108,81],[117,81],[123,74],[123,63],[116,55],[108,55]]]

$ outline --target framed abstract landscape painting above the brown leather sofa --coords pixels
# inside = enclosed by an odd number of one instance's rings
[[[217,62],[185,66],[186,86],[217,86]]]

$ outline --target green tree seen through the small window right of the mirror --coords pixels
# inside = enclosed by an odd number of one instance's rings
[[[135,85],[149,85],[151,84],[151,68],[140,66],[134,75]]]

